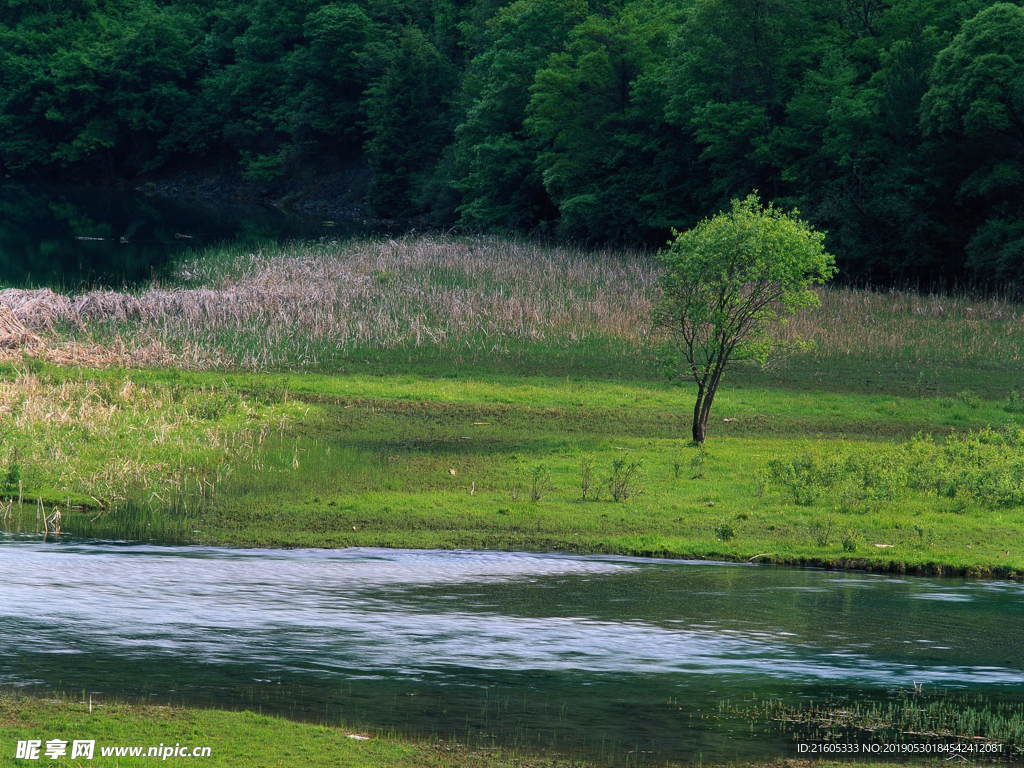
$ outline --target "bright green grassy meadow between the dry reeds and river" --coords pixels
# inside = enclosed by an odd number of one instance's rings
[[[807,454],[899,451],[919,433],[941,444],[1012,418],[1007,402],[973,395],[734,383],[698,451],[683,437],[688,390],[660,382],[47,367],[31,376],[40,390],[127,388],[135,399],[134,410],[115,411],[120,427],[109,433],[48,420],[45,439],[38,425],[9,434],[28,483],[25,506],[9,511],[9,526],[22,529],[38,528],[40,495],[102,501],[92,481],[111,472],[113,452],[143,482],[102,509],[66,510],[63,530],[247,547],[557,549],[1024,572],[1018,504],[993,505],[977,489],[943,496],[842,477],[836,493],[798,498],[766,471]],[[168,429],[160,419],[174,396],[185,416],[158,444],[152,435]],[[40,454],[33,469],[42,444],[62,445],[62,462]],[[618,500],[609,486],[616,462]],[[624,477],[633,465],[635,476]],[[162,473],[170,495],[154,490]]]

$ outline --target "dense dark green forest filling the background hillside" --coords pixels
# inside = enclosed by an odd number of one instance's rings
[[[844,273],[1017,282],[1024,7],[4,0],[15,177],[366,167],[380,216],[660,245],[753,189]]]

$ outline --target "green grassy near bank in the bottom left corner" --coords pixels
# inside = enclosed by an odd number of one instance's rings
[[[252,712],[195,710],[121,702],[89,702],[71,699],[34,699],[0,696],[0,766],[20,766],[13,758],[18,740],[61,738],[94,739],[95,766],[131,766],[153,758],[102,758],[102,746],[183,745],[210,748],[209,757],[168,757],[162,765],[196,765],[234,768],[239,765],[295,766],[308,768],[593,768],[592,764],[558,757],[540,756],[507,749],[474,750],[440,740],[413,740],[341,726],[298,723]],[[77,765],[60,759],[55,765]],[[938,763],[936,763],[938,764]],[[663,764],[664,765],[664,764]],[[744,764],[750,765],[750,764]],[[759,768],[833,768],[844,765],[801,760],[779,760]],[[871,763],[887,768],[896,763]],[[927,763],[914,763],[927,765]],[[751,766],[751,768],[754,768]]]

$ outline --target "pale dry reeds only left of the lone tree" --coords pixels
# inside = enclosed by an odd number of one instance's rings
[[[182,267],[176,287],[6,290],[0,304],[40,333],[104,346],[123,338],[126,364],[259,370],[313,367],[360,349],[501,353],[595,336],[643,343],[655,274],[638,256],[418,238],[200,258]]]

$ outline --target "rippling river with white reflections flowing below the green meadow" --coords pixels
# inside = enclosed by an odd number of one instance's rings
[[[1009,583],[7,537],[0,585],[3,685],[259,706],[608,758],[792,751],[746,723],[702,718],[726,697],[914,683],[1024,692],[1024,587]]]

